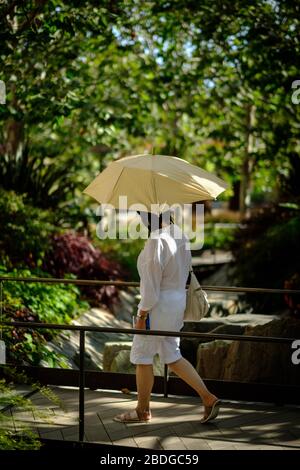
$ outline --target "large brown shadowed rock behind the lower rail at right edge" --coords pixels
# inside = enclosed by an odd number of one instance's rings
[[[282,318],[247,326],[244,334],[300,338],[300,322]],[[292,364],[292,353],[290,344],[215,340],[199,344],[197,371],[210,379],[299,385],[300,367]]]

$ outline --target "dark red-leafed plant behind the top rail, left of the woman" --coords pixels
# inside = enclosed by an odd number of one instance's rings
[[[103,281],[127,278],[127,272],[118,262],[108,259],[86,236],[77,232],[52,237],[43,268],[59,278],[67,273],[75,274],[79,279]],[[92,306],[110,308],[118,300],[115,286],[80,286],[80,289]]]

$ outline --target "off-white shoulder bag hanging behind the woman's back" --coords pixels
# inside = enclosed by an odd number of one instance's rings
[[[205,317],[210,305],[208,303],[207,294],[201,288],[192,266],[190,267],[190,274],[191,279],[189,288],[187,289],[183,321],[197,322]]]

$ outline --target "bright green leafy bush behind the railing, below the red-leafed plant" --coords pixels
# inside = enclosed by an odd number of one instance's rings
[[[0,273],[11,277],[49,277],[42,271],[7,271]],[[7,321],[38,321],[45,323],[70,323],[88,308],[80,300],[78,288],[71,284],[42,284],[3,281],[3,313]],[[8,328],[4,330],[8,360],[13,363],[39,365],[44,361],[49,367],[67,367],[64,356],[51,351],[47,341],[53,338],[53,330]]]

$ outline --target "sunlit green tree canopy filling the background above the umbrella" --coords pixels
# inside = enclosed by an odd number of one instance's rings
[[[3,155],[13,159],[30,142],[33,155],[67,163],[81,191],[111,159],[154,145],[232,185],[249,176],[256,200],[278,188],[298,194],[296,2],[53,0],[35,8],[27,0],[0,8]]]

